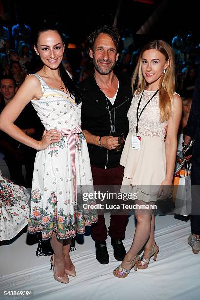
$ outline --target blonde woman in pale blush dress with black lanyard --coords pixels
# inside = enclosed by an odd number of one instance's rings
[[[175,93],[172,49],[165,41],[154,40],[145,45],[133,74],[132,87],[129,134],[120,161],[125,167],[122,192],[129,187],[129,192],[137,192],[137,204],[153,205],[172,186],[182,114],[182,100]],[[168,130],[164,142],[165,125]],[[135,215],[133,243],[122,264],[113,271],[119,278],[127,277],[133,266],[135,270],[147,268],[150,258],[154,256],[156,260],[159,251],[154,237],[153,210],[136,209]],[[138,252],[143,246],[144,253],[139,260]]]

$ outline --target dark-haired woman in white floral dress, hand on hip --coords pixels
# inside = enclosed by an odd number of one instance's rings
[[[82,193],[90,192],[92,175],[87,143],[81,130],[81,94],[62,66],[62,34],[52,25],[37,31],[34,49],[44,63],[27,76],[0,116],[0,129],[38,150],[35,159],[28,232],[50,239],[54,278],[68,283],[75,276],[70,240],[85,225],[97,222],[93,209],[83,209]],[[27,136],[13,122],[32,103],[45,131],[41,141]]]

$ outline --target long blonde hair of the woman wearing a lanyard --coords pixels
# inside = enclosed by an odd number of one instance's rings
[[[142,55],[145,51],[156,49],[165,56],[166,61],[169,60],[167,73],[162,75],[159,83],[159,105],[161,121],[168,120],[173,109],[173,93],[175,91],[175,72],[174,72],[174,56],[172,48],[168,43],[162,40],[150,41],[142,49],[138,63],[132,76],[132,92],[135,92],[137,81],[137,94],[139,94],[146,86],[147,82],[142,74]]]

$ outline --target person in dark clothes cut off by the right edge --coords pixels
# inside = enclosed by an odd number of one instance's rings
[[[192,212],[190,222],[192,234],[188,237],[188,243],[191,245],[193,253],[198,254],[200,251],[200,75],[195,84],[190,115],[183,132],[185,147],[190,143],[191,138],[195,139],[191,169]]]

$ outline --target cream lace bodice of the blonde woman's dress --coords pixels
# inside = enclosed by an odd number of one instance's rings
[[[144,91],[138,115],[140,115],[141,110],[143,109],[145,104],[150,100],[154,93],[155,91]],[[136,132],[136,112],[141,94],[142,92],[140,94],[134,94],[130,108],[128,110],[129,132]],[[150,103],[146,106],[146,108],[142,112],[142,115],[140,116],[138,125],[138,135],[151,137],[160,136],[164,138],[165,125],[167,125],[167,121],[160,121],[159,93],[157,93],[150,101]]]

